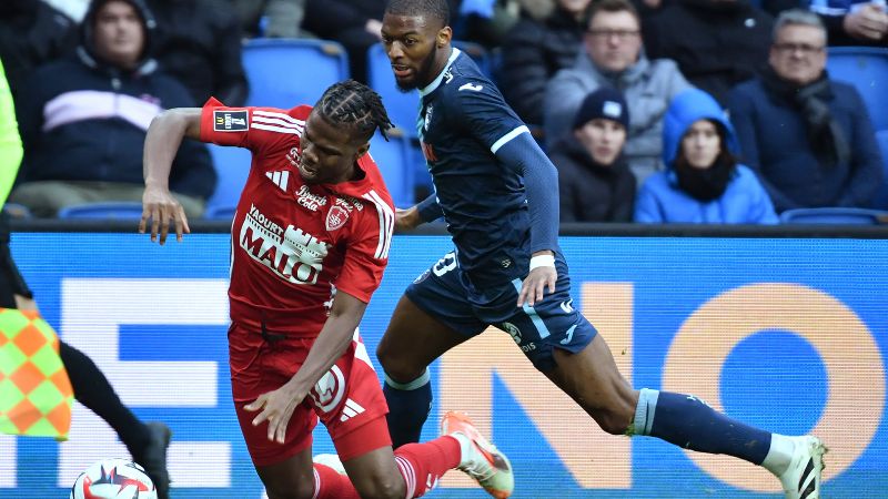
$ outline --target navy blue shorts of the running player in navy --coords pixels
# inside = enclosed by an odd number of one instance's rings
[[[555,258],[558,281],[533,307],[518,308],[522,282],[515,279],[500,288],[486,288],[483,296],[472,291],[456,265],[456,255],[447,253],[407,286],[405,294],[417,307],[460,334],[472,337],[495,326],[518,344],[538,370],[555,367],[554,348],[582,352],[598,333],[577,312],[571,298],[567,265]]]

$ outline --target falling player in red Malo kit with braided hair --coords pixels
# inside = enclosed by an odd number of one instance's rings
[[[314,106],[211,99],[162,113],[148,131],[140,232],[151,221],[160,244],[171,223],[178,241],[190,232],[168,189],[182,139],[252,152],[232,223],[229,354],[238,419],[270,499],[420,497],[452,468],[496,497],[514,487],[507,458],[461,415],[445,416],[445,436],[392,450],[356,330],[392,243],[394,207],[367,154],[375,130],[390,126],[380,96],[349,80]],[[319,419],[342,470],[312,462]]]

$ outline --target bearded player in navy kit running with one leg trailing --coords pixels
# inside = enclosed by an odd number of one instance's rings
[[[397,85],[422,96],[417,131],[435,185],[397,212],[396,226],[443,215],[456,248],[407,287],[377,348],[395,448],[416,441],[428,415],[427,366],[493,325],[605,431],[738,457],[777,476],[787,498],[819,498],[819,439],[770,434],[696,397],[636,390],[623,378],[572,306],[556,170],[496,86],[451,45],[447,24],[446,0],[391,0],[383,18]]]

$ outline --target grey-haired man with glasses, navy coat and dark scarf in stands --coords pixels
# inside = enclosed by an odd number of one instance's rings
[[[769,69],[728,95],[744,162],[777,212],[866,207],[882,182],[866,105],[854,86],[829,79],[826,58],[820,19],[785,11],[775,23]]]

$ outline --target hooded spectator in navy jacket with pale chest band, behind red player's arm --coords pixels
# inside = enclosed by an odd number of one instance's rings
[[[11,202],[49,217],[74,204],[141,202],[151,120],[195,104],[181,83],[154,71],[153,26],[141,0],[93,0],[77,53],[26,81],[17,109],[24,162]],[[170,189],[188,216],[203,213],[215,181],[203,144],[184,143]]]

